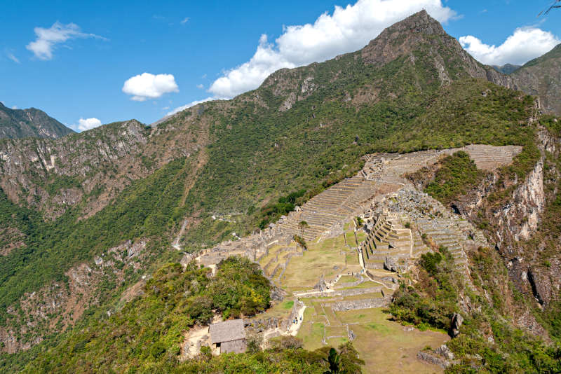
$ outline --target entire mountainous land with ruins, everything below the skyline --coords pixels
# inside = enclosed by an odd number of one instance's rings
[[[420,11],[153,125],[0,139],[0,370],[555,372],[555,51],[503,74]]]

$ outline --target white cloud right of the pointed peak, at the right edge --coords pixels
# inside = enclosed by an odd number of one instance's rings
[[[515,29],[500,46],[489,46],[475,36],[461,36],[459,42],[468,53],[483,64],[524,64],[549,52],[561,40],[550,32],[536,27]]]

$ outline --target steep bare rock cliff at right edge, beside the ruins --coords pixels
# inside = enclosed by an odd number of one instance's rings
[[[547,306],[561,289],[558,233],[555,228],[550,232],[551,223],[546,222],[546,212],[557,198],[559,178],[548,155],[555,159],[559,143],[544,128],[536,141],[541,155],[525,179],[504,179],[500,172],[488,174],[480,186],[452,205],[487,228],[517,289]],[[534,320],[528,313],[520,318],[522,324]]]

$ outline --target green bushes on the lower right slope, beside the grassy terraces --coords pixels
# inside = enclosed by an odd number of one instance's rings
[[[421,271],[415,286],[400,285],[389,307],[393,317],[419,328],[450,329],[450,318],[459,310],[459,293],[468,295],[471,307],[478,312],[466,314],[457,338],[447,343],[459,363],[447,373],[557,373],[561,370],[561,350],[547,346],[534,335],[514,328],[502,315],[505,292],[499,289],[506,280],[506,269],[490,249],[473,254],[474,283],[488,290],[493,303],[462,286],[461,275],[453,270],[447,251],[426,254],[419,261]],[[496,279],[501,277],[501,280]],[[506,282],[505,282],[506,283]],[[489,340],[487,336],[492,336]]]

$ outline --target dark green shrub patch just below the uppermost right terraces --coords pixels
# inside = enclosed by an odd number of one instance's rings
[[[426,186],[425,192],[447,203],[466,193],[483,176],[484,173],[475,167],[468,153],[459,151],[442,160],[442,167],[436,172],[434,181]]]

